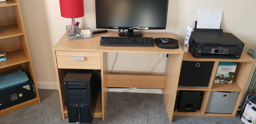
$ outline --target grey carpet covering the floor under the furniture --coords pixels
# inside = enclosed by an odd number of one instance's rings
[[[58,90],[39,89],[41,104],[0,117],[0,124],[69,124],[62,120]],[[236,117],[173,116],[172,124],[244,124]],[[93,124],[171,124],[162,94],[108,92],[105,121]]]

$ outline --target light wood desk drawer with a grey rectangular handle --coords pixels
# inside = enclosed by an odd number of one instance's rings
[[[100,52],[56,51],[58,68],[100,69]]]

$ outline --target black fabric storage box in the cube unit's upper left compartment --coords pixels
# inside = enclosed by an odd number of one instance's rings
[[[182,61],[179,87],[208,87],[214,62]]]

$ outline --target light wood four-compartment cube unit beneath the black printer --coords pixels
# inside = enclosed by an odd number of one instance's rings
[[[183,46],[181,46],[183,48]],[[237,109],[242,100],[244,90],[250,78],[252,68],[254,66],[255,60],[252,59],[245,52],[242,53],[241,58],[239,59],[225,59],[225,58],[195,58],[191,55],[190,52],[184,53],[183,59],[185,61],[214,61],[214,66],[212,69],[212,75],[208,87],[178,87],[178,90],[197,90],[202,91],[204,94],[203,102],[200,110],[196,112],[178,112],[174,111],[173,115],[186,115],[186,116],[220,116],[220,117],[235,117]],[[235,62],[236,71],[234,79],[231,84],[224,83],[213,83],[215,80],[215,74],[218,68],[219,62]],[[211,91],[230,91],[230,92],[239,92],[239,95],[236,100],[236,105],[232,113],[223,114],[223,113],[205,113],[206,105],[210,96]]]

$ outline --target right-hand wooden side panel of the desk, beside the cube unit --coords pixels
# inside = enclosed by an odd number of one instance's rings
[[[167,60],[163,98],[170,123],[172,122],[182,57],[183,54],[169,54]]]

